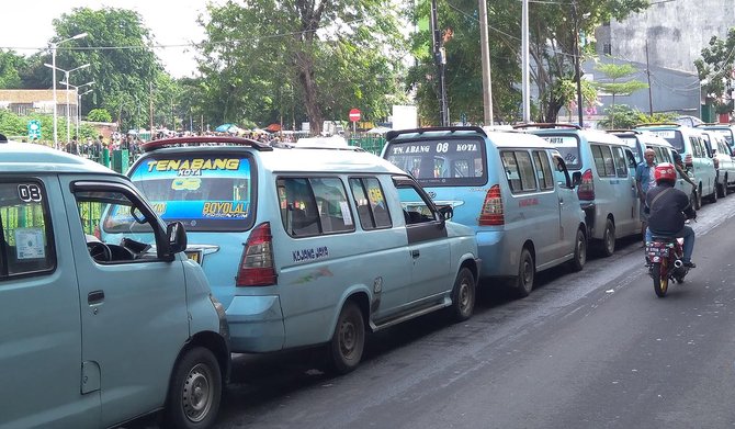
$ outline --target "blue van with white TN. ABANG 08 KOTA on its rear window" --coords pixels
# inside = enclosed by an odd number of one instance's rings
[[[454,222],[472,227],[483,278],[510,279],[519,296],[535,273],[587,258],[585,215],[559,153],[513,131],[432,127],[387,133],[383,157],[411,176]],[[579,177],[579,174],[577,174]]]

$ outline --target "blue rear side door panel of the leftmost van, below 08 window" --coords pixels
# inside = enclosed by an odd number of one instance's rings
[[[0,334],[0,427],[98,427],[99,392],[80,391],[79,290],[67,215],[58,180],[45,180],[44,187],[56,269],[13,279],[12,286],[0,283],[0,325],[5,327]]]

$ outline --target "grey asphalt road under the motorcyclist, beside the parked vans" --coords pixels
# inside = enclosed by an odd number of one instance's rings
[[[735,196],[705,205],[685,284],[656,297],[637,240],[524,300],[483,285],[475,316],[369,339],[331,376],[318,354],[236,355],[216,428],[735,426]]]

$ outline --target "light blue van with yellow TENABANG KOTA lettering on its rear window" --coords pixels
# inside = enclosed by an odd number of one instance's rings
[[[369,329],[441,308],[461,320],[473,313],[473,232],[375,155],[236,137],[142,149],[128,174],[163,219],[186,227],[186,252],[226,308],[236,352],[325,345],[343,373]]]

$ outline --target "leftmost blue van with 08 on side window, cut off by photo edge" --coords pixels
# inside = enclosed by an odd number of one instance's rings
[[[0,428],[206,428],[227,325],[180,223],[90,160],[0,135]]]

